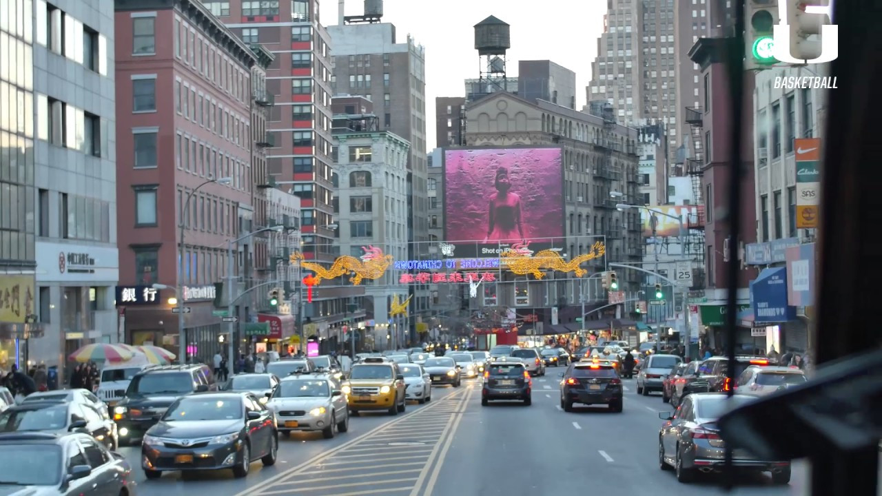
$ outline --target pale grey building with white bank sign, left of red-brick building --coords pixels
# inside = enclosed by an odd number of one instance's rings
[[[29,352],[64,377],[66,357],[80,345],[125,337],[114,307],[113,2],[37,0],[34,10],[36,294],[44,337]]]

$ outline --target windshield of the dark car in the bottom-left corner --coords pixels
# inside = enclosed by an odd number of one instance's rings
[[[61,447],[48,444],[0,445],[0,485],[57,485]],[[16,490],[12,490],[16,492]]]

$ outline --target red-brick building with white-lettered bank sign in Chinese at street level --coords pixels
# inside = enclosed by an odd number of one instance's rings
[[[127,342],[176,349],[183,339],[188,357],[206,359],[226,349],[213,313],[226,245],[254,225],[258,56],[195,0],[117,0],[116,33],[127,34],[116,39],[116,198],[131,206],[116,219],[127,241],[116,304]],[[191,309],[180,317],[177,298]]]

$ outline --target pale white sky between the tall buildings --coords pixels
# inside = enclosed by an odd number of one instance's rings
[[[325,25],[337,24],[338,3],[320,0]],[[419,7],[417,7],[417,5]],[[475,24],[490,15],[511,25],[508,76],[519,60],[544,60],[576,72],[576,108],[586,103],[585,86],[603,32],[602,0],[385,0],[383,21],[395,25],[398,42],[411,34],[426,50],[427,152],[435,147],[435,98],[465,96],[463,79],[477,78]],[[363,13],[363,0],[346,0],[346,15]],[[332,47],[333,49],[333,47]]]

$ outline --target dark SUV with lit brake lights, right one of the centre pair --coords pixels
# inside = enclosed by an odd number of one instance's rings
[[[616,367],[609,364],[579,362],[567,367],[561,374],[560,408],[572,411],[573,403],[584,405],[609,405],[609,409],[622,412],[624,396],[622,379]]]

